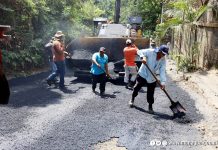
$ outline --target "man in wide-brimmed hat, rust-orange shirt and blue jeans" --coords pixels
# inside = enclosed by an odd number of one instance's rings
[[[53,41],[53,47],[52,47],[52,54],[53,54],[53,61],[57,67],[57,70],[53,72],[48,78],[47,83],[50,86],[51,83],[54,82],[55,77],[59,74],[60,76],[60,82],[59,87],[64,88],[64,76],[65,76],[65,54],[67,54],[66,51],[64,51],[64,34],[62,31],[57,31],[55,34],[55,39]]]

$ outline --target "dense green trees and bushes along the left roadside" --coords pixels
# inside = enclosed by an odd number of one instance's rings
[[[57,30],[65,33],[66,41],[90,34],[93,17],[103,13],[93,0],[1,0],[0,22],[12,26],[13,37],[10,51],[4,51],[6,68],[41,66],[41,50]]]

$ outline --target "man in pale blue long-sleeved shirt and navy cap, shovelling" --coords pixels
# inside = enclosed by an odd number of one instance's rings
[[[132,98],[129,101],[130,107],[133,107],[134,99],[138,95],[139,90],[147,85],[147,102],[149,103],[149,112],[153,113],[152,104],[154,103],[154,90],[156,87],[156,80],[149,72],[145,64],[149,66],[153,73],[159,71],[161,88],[165,88],[166,82],[166,58],[169,48],[166,45],[161,45],[156,49],[142,49],[137,54],[142,59],[141,67],[138,71],[136,84],[133,88]]]

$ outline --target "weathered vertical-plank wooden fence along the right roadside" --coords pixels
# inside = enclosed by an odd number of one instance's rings
[[[172,30],[174,53],[190,58],[197,67],[218,67],[218,19],[212,9],[197,22],[176,26]]]

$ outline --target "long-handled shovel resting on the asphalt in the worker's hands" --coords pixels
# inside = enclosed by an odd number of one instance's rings
[[[158,85],[160,87],[162,87],[160,81],[157,79],[157,77],[154,75],[154,73],[151,71],[151,69],[148,67],[147,64],[145,64],[145,66],[148,68],[148,70],[150,71],[150,73],[152,74],[152,76],[155,78],[155,80],[157,81]],[[179,103],[179,102],[174,102],[171,97],[169,96],[169,94],[167,93],[167,91],[165,89],[162,89],[164,91],[164,93],[167,95],[167,97],[169,98],[170,102],[171,102],[171,106],[170,109],[173,112],[173,116],[174,118],[179,117],[181,118],[182,116],[185,115],[185,111],[186,109]]]

